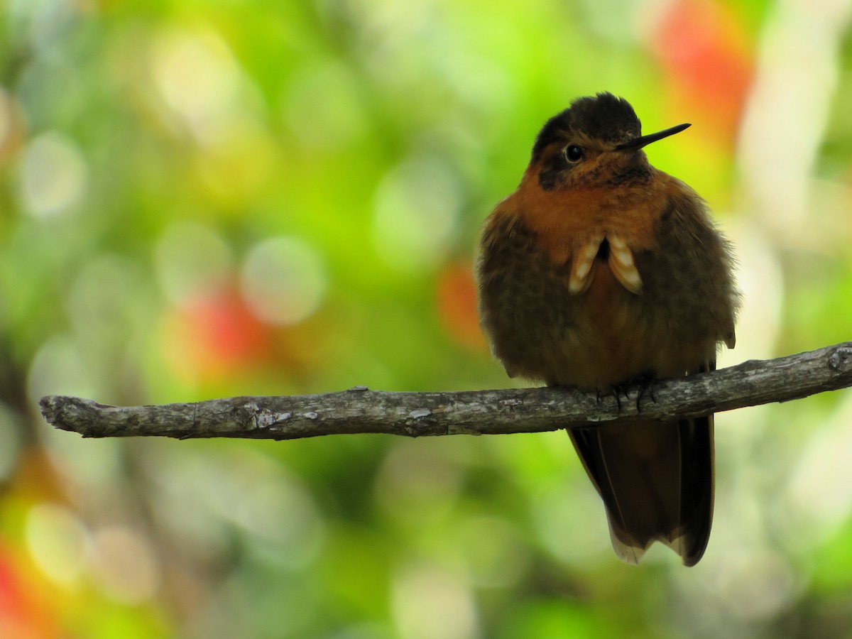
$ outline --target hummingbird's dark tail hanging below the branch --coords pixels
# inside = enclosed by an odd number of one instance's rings
[[[654,541],[698,563],[713,518],[713,417],[569,431],[607,509],[613,549],[638,563]]]

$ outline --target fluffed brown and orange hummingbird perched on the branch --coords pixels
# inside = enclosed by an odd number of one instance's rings
[[[730,245],[705,203],[654,169],[633,107],[582,97],[544,124],[521,185],[485,222],[480,320],[509,377],[611,392],[682,377],[734,348]],[[616,391],[617,392],[617,391]],[[687,566],[713,515],[713,416],[569,430],[607,510],[613,548],[653,541]]]

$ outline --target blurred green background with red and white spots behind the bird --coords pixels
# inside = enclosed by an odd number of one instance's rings
[[[112,404],[498,388],[470,275],[544,120],[610,90],[711,204],[727,365],[852,338],[836,0],[0,2],[0,636],[852,633],[852,394],[717,418],[692,569],[613,555],[564,433],[82,440]]]

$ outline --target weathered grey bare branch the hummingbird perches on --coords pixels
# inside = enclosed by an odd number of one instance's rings
[[[83,437],[137,435],[289,440],[317,435],[496,435],[595,427],[613,419],[698,417],[852,386],[852,342],[777,360],[660,380],[653,399],[631,386],[619,400],[577,389],[392,393],[355,387],[290,397],[231,397],[162,406],[104,406],[49,395],[42,414]]]

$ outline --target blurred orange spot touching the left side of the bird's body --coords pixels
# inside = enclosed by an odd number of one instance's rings
[[[455,262],[440,273],[437,305],[441,324],[456,342],[477,350],[486,348],[476,312],[472,264]]]

